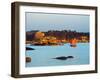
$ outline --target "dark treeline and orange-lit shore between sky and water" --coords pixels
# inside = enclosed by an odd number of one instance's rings
[[[41,32],[32,30],[26,32],[26,44],[32,45],[63,45],[64,43],[89,43],[89,32],[71,30],[49,30]]]

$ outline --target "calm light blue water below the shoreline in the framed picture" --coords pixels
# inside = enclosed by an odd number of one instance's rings
[[[27,47],[35,50],[26,51],[26,56],[32,59],[31,62],[26,63],[26,67],[89,64],[89,43],[78,43],[75,48],[70,47],[68,43],[58,46],[27,45]],[[60,56],[73,56],[74,58],[67,60],[53,59]]]

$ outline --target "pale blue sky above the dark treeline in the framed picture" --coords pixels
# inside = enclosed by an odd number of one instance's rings
[[[32,13],[25,14],[26,31],[75,30],[89,32],[89,15]]]

